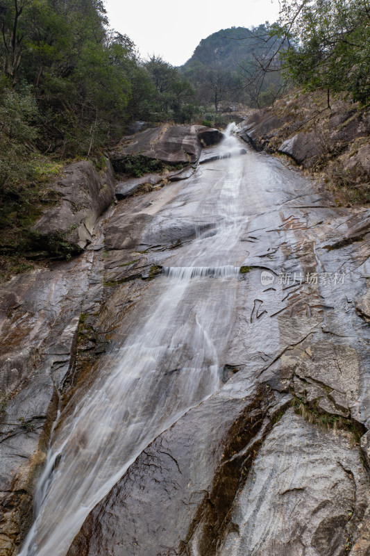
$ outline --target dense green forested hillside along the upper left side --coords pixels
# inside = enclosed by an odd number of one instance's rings
[[[101,0],[1,0],[0,26],[0,255],[18,261],[67,161],[99,167],[131,120],[183,123],[196,106],[176,68],[110,30]]]

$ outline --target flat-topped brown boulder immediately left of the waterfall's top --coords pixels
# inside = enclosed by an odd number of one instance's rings
[[[169,164],[194,163],[201,154],[202,146],[213,145],[222,137],[218,129],[206,126],[164,124],[124,139],[110,158],[117,171],[120,170],[120,162],[128,155],[140,155]]]

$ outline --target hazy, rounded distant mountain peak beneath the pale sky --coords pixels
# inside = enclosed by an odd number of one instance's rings
[[[260,72],[255,81],[251,76],[258,60],[274,55],[277,44],[263,24],[221,29],[201,40],[180,72],[192,83],[200,104],[213,104],[216,112],[231,101],[265,106],[280,88],[280,72]]]

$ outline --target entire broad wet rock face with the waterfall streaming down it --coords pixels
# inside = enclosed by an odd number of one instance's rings
[[[0,554],[369,555],[369,213],[233,130],[1,286]]]

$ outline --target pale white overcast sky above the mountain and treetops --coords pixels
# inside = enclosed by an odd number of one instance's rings
[[[143,58],[172,65],[188,60],[201,39],[228,27],[250,27],[278,17],[278,0],[106,0],[110,26],[135,42]]]

